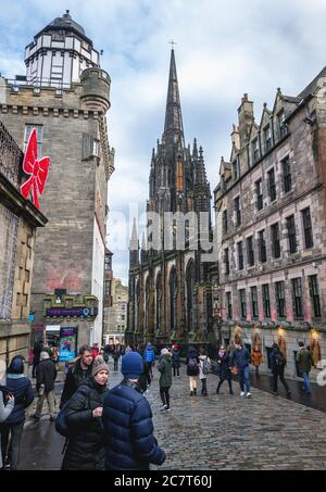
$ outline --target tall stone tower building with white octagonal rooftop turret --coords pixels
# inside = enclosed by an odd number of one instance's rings
[[[80,326],[78,343],[101,343],[108,181],[114,171],[105,119],[110,76],[68,13],[35,37],[25,63],[25,77],[0,78],[0,121],[22,148],[35,127],[39,156],[51,157],[40,198],[49,224],[35,251],[34,326],[58,325],[43,316],[45,297],[55,289],[93,295],[98,315]]]

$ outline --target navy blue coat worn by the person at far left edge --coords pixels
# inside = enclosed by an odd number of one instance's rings
[[[5,420],[5,424],[21,424],[25,420],[25,409],[34,400],[32,383],[25,376],[8,375],[5,386],[15,398],[14,409]]]

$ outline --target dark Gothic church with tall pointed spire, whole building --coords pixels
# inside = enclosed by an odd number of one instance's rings
[[[197,232],[203,226],[210,239],[210,204],[203,150],[196,139],[192,149],[185,144],[172,50],[165,126],[162,140],[152,151],[148,227],[140,256],[136,224],[129,248],[127,343],[208,343],[212,298],[204,254],[210,248],[204,250]]]

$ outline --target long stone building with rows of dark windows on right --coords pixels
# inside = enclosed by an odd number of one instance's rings
[[[278,343],[291,377],[298,341],[314,376],[326,358],[325,94],[326,68],[298,97],[278,89],[259,124],[244,94],[214,190],[218,338],[261,348],[263,370]]]

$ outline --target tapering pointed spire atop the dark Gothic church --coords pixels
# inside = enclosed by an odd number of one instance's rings
[[[185,147],[181,104],[173,49],[171,50],[165,125],[162,140],[170,148],[174,148],[175,143],[180,143],[181,148]]]

